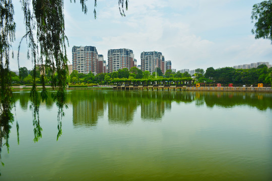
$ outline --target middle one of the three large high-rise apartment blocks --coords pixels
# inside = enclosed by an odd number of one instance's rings
[[[127,68],[128,70],[134,66],[134,54],[132,50],[110,49],[108,50],[108,71],[109,73]]]

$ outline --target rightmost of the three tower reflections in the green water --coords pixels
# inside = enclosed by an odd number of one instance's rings
[[[150,102],[143,102],[141,105],[141,118],[150,121],[161,120],[165,109],[169,107],[171,109],[171,102],[167,104],[165,101],[156,99]]]

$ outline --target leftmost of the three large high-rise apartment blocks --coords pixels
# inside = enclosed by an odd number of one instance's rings
[[[98,73],[98,53],[93,46],[74,46],[72,48],[73,70],[79,73]]]

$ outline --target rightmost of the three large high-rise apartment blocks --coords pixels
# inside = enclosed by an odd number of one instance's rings
[[[141,69],[148,70],[151,74],[159,67],[165,73],[164,56],[161,52],[142,52],[141,53]]]

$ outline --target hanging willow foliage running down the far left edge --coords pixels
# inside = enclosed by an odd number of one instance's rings
[[[15,22],[13,21],[14,9],[9,0],[0,1],[0,153],[6,144],[9,151],[9,134],[14,121],[11,109],[14,100],[11,90],[11,74],[9,70],[11,43],[15,40]],[[4,142],[6,140],[6,142]],[[0,162],[4,165],[1,159]],[[1,174],[0,174],[1,175]]]

